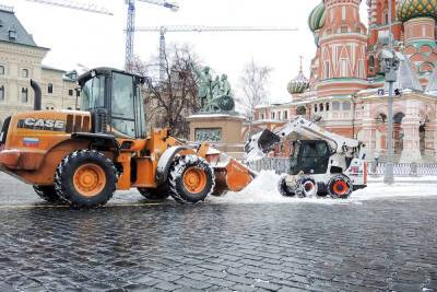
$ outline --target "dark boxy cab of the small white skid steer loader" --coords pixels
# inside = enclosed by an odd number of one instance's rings
[[[331,150],[324,140],[297,140],[293,141],[290,157],[290,173],[296,175],[324,174],[328,170]]]

